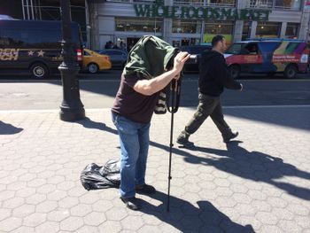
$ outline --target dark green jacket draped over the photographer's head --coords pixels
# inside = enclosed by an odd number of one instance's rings
[[[173,64],[177,49],[154,35],[143,37],[129,51],[123,74],[140,73],[147,79],[159,76],[167,71],[169,62]]]

